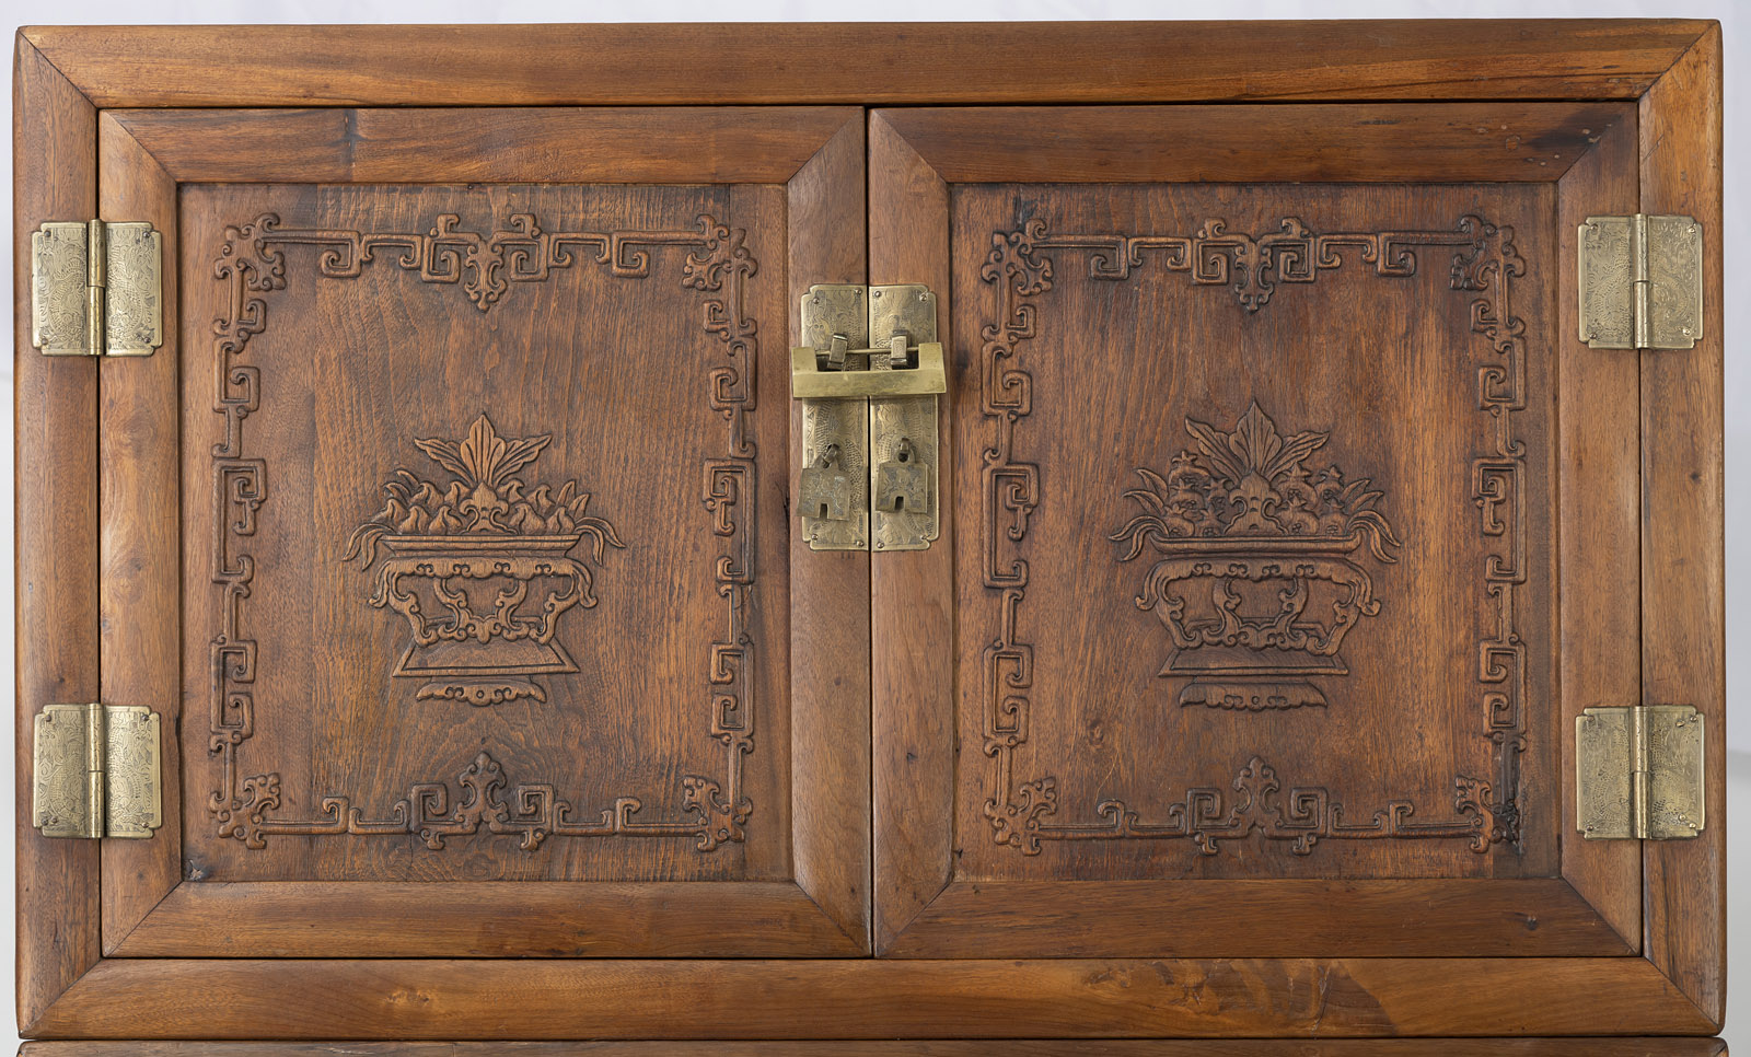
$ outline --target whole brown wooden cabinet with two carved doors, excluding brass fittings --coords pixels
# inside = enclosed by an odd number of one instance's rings
[[[1712,23],[44,28],[16,84],[32,1054],[1714,1052],[1635,1038],[1725,1010]],[[1583,336],[1628,214],[1702,229],[1690,350]],[[163,240],[149,357],[32,346],[88,217]],[[928,550],[798,528],[816,284],[937,298]],[[33,828],[56,702],[159,714],[151,838]],[[1637,704],[1693,838],[1578,830]]]

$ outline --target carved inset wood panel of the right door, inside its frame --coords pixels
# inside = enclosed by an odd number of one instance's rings
[[[961,875],[1553,866],[1543,198],[956,192]]]

